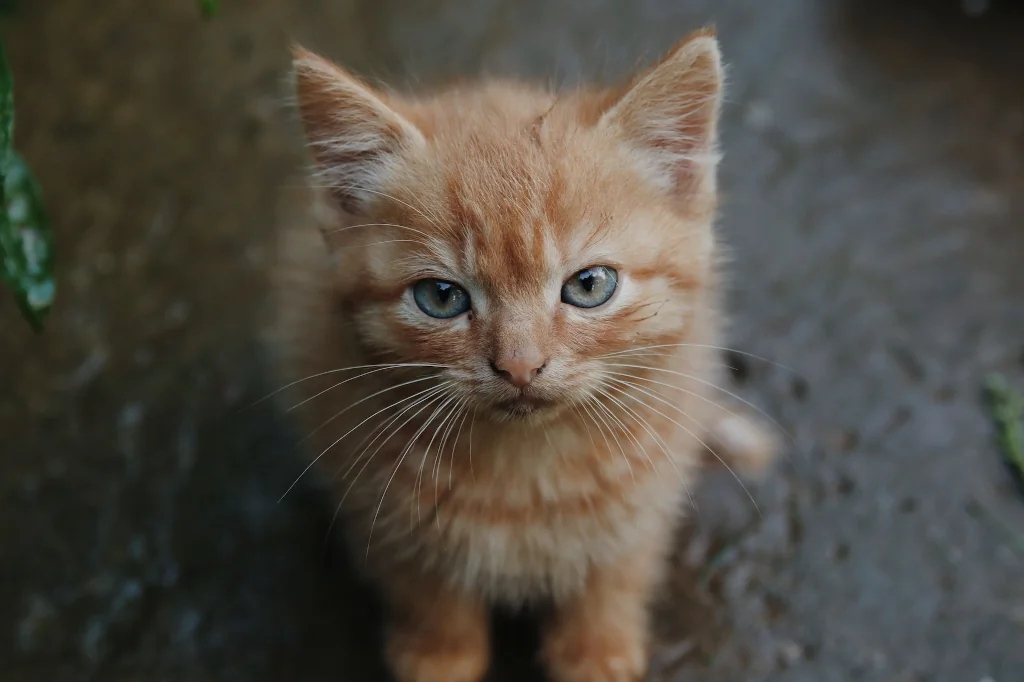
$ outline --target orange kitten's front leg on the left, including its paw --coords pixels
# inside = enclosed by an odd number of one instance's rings
[[[409,577],[386,586],[386,656],[398,682],[479,682],[490,663],[487,609],[439,581]]]

